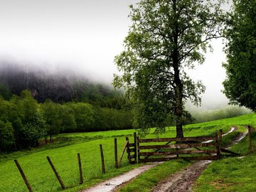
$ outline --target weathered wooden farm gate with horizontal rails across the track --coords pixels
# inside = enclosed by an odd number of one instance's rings
[[[163,144],[163,142],[167,142]],[[138,162],[220,159],[221,133],[210,137],[137,139]],[[199,148],[201,147],[201,149]]]

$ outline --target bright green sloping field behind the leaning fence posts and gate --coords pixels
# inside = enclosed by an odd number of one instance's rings
[[[184,136],[212,135],[223,129],[228,132],[233,125],[256,125],[256,114],[247,114],[230,119],[221,119],[214,122],[201,124],[191,124],[184,127]],[[245,129],[241,128],[241,131]],[[152,132],[154,130],[152,129]],[[63,178],[67,191],[79,191],[95,183],[103,181],[112,176],[122,174],[137,165],[129,165],[125,154],[122,167],[114,168],[114,137],[117,137],[118,152],[121,154],[124,147],[125,137],[132,139],[134,130],[120,130],[109,132],[90,132],[79,134],[60,134],[56,144],[49,144],[41,149],[31,149],[31,151],[20,151],[13,154],[2,154],[0,161],[0,191],[27,191],[25,183],[14,164],[14,159],[18,159],[23,171],[30,181],[33,191],[61,191],[60,185],[50,169],[46,156],[50,156],[53,164]],[[160,137],[175,137],[174,127],[166,128],[166,132]],[[148,138],[155,137],[149,134]],[[133,139],[132,139],[133,141]],[[102,144],[105,154],[106,174],[101,173],[100,149]],[[54,149],[51,149],[54,148]],[[79,186],[78,160],[80,153],[82,169],[85,183]],[[177,162],[169,162],[178,167]]]

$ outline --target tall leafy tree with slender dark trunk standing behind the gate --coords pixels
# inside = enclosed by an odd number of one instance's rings
[[[132,26],[124,51],[115,57],[124,86],[135,109],[134,127],[164,127],[176,121],[176,137],[183,137],[184,102],[201,103],[205,87],[189,78],[186,69],[203,63],[209,41],[220,37],[223,11],[218,1],[142,0],[131,7]]]

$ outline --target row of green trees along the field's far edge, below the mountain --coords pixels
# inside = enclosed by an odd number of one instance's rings
[[[9,100],[0,97],[0,152],[38,146],[41,138],[63,132],[132,128],[127,110],[101,108],[85,102],[39,103],[24,90]]]

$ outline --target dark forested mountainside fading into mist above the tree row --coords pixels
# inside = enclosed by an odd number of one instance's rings
[[[120,108],[125,102],[122,92],[110,85],[90,82],[75,73],[52,73],[29,65],[0,63],[0,95],[9,99],[30,90],[38,102],[89,102],[100,107]],[[117,106],[118,105],[118,106]]]

